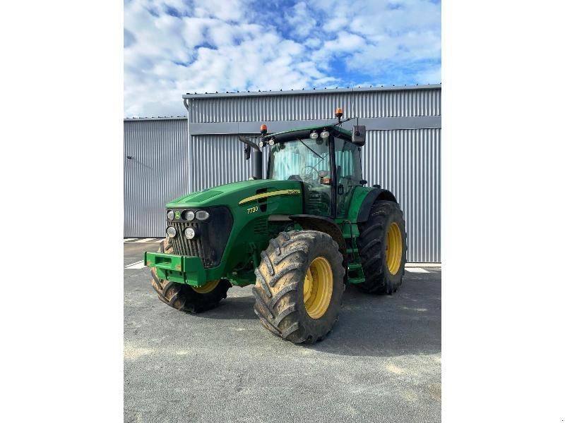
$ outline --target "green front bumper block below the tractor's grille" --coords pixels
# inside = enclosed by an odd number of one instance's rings
[[[203,286],[208,282],[200,257],[145,252],[143,262],[145,266],[154,267],[160,279],[191,286]]]

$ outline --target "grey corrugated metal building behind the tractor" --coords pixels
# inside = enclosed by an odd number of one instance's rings
[[[187,118],[124,119],[124,236],[162,237],[165,202],[246,180],[237,134],[335,121],[335,107],[367,126],[364,178],[403,208],[409,262],[441,262],[441,85],[186,94]],[[350,128],[353,121],[344,124]],[[266,155],[265,155],[266,156]]]

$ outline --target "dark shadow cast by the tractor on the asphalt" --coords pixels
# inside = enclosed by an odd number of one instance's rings
[[[207,319],[258,320],[251,287],[235,288],[220,307],[198,314]],[[257,322],[258,324],[258,322]],[[287,342],[265,333],[266,339]],[[441,352],[441,273],[406,274],[393,295],[369,295],[347,286],[333,330],[314,345],[297,345],[345,356],[398,356]]]

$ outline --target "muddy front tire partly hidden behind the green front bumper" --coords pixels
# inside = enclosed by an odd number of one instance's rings
[[[158,252],[173,254],[172,243],[165,238],[159,245]],[[160,279],[154,267],[151,267],[151,286],[157,291],[157,296],[166,305],[183,312],[198,313],[218,307],[220,300],[226,298],[230,283],[225,280],[210,281],[205,286],[193,288],[184,283],[174,283]]]

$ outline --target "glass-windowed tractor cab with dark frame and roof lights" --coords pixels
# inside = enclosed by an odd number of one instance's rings
[[[304,190],[304,213],[345,217],[353,190],[362,178],[360,143],[335,125],[299,128],[264,135],[269,145],[267,178],[298,180]]]

